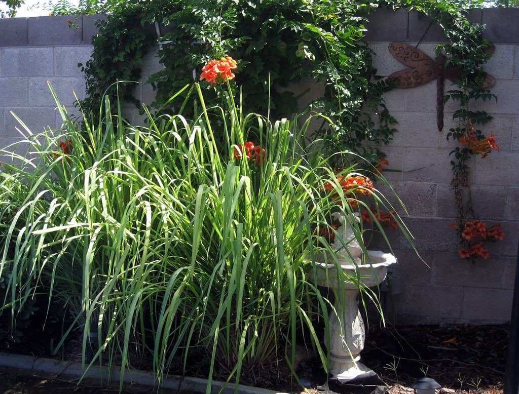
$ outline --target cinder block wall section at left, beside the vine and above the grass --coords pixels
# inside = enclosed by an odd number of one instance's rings
[[[90,58],[91,37],[97,32],[95,19],[70,16],[0,20],[0,145],[20,139],[16,128],[21,127],[11,111],[35,133],[61,125],[47,81],[61,103],[71,113],[77,113],[74,93],[78,98],[85,95],[85,78],[77,64]]]

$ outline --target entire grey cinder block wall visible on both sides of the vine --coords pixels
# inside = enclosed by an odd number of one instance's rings
[[[88,60],[94,20],[100,16],[40,17],[0,20],[0,145],[17,140],[16,112],[34,132],[61,122],[47,89],[49,80],[61,102],[73,107],[73,91],[84,96],[84,78],[78,62]],[[392,274],[392,296],[388,317],[397,324],[444,323],[484,324],[510,320],[513,279],[519,236],[519,10],[474,10],[471,18],[487,24],[487,38],[496,51],[487,64],[496,78],[493,92],[497,104],[479,104],[494,116],[486,128],[496,135],[499,152],[473,161],[472,191],[476,213],[490,226],[502,223],[506,237],[490,248],[487,260],[475,264],[458,257],[457,233],[449,228],[455,217],[452,172],[448,153],[455,146],[436,128],[435,81],[386,95],[399,132],[384,147],[389,167],[386,172],[408,209],[405,221],[415,244],[429,267],[415,255],[398,232],[388,230],[399,266]],[[69,27],[71,20],[76,28]],[[370,18],[367,39],[376,56],[380,75],[405,66],[388,51],[391,41],[403,41],[434,58],[434,48],[444,40],[438,26],[427,18],[406,11],[378,11]],[[160,69],[155,49],[143,62],[143,80]],[[448,89],[448,82],[445,85]],[[140,84],[139,100],[149,104],[154,93]],[[455,107],[445,107],[445,130]],[[128,107],[129,113],[136,111]],[[0,160],[3,160],[0,158]],[[377,247],[376,243],[372,245]],[[378,245],[380,246],[380,245]],[[393,314],[394,312],[394,314]]]

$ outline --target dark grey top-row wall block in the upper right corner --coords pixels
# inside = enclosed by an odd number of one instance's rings
[[[519,9],[486,8],[482,22],[486,25],[483,37],[491,43],[519,43]]]

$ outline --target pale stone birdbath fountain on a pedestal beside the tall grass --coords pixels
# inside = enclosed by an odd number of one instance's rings
[[[334,308],[337,313],[330,314],[330,373],[340,383],[358,384],[370,381],[370,377],[378,378],[371,369],[359,362],[366,337],[364,321],[359,312],[357,294],[359,286],[373,287],[386,278],[388,266],[397,259],[388,253],[378,250],[367,250],[369,264],[362,264],[362,248],[355,237],[350,223],[360,221],[358,216],[335,214],[341,222],[338,233],[340,238],[331,244],[336,250],[342,275],[338,274],[338,266],[318,262],[317,284],[334,292]],[[346,248],[344,248],[346,245]],[[329,260],[330,261],[330,260]],[[378,378],[379,379],[379,378]]]

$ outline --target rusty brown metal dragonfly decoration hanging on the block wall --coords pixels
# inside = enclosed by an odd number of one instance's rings
[[[490,45],[485,53],[494,53],[494,45]],[[460,79],[459,69],[455,66],[445,67],[447,58],[444,55],[436,57],[436,61],[432,60],[424,52],[420,51],[411,45],[405,43],[391,43],[389,44],[389,52],[393,58],[400,63],[405,64],[411,68],[394,72],[389,76],[393,80],[395,88],[414,88],[416,86],[424,85],[436,78],[436,115],[438,130],[443,130],[443,85],[444,80],[449,79],[456,82]],[[482,88],[490,88],[494,86],[495,79],[493,76],[487,74]]]

